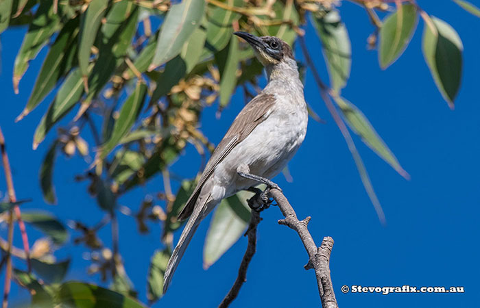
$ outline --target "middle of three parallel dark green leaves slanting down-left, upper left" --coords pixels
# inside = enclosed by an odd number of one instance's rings
[[[73,60],[77,51],[78,25],[79,18],[72,19],[64,25],[62,31],[58,34],[47,57],[45,57],[43,61],[27,106],[20,116],[16,118],[16,121],[21,120],[23,116],[26,116],[34,110],[47,94],[49,94],[58,80],[66,75],[73,66]]]

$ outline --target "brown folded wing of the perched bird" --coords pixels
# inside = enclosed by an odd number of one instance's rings
[[[212,175],[217,164],[219,164],[237,144],[245,140],[257,125],[269,116],[269,111],[272,109],[274,103],[275,97],[273,94],[261,93],[243,107],[243,110],[241,110],[237,118],[235,118],[224,138],[218,144],[215,151],[213,151],[202,173],[202,177],[200,177],[200,181],[198,181],[195,190],[193,190],[193,194],[191,194],[189,201],[187,201],[180,215],[178,215],[179,220],[184,220],[191,215],[200,190],[202,190],[205,181]]]

